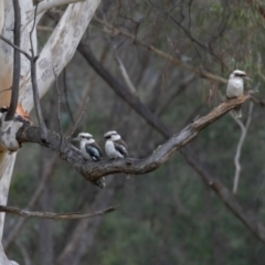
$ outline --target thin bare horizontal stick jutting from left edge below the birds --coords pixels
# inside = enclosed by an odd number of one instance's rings
[[[72,219],[88,219],[103,215],[113,212],[117,206],[110,206],[95,213],[52,213],[52,212],[31,212],[21,210],[14,206],[0,205],[0,212],[12,213],[22,218],[39,218],[39,219],[60,219],[60,220],[72,220]]]

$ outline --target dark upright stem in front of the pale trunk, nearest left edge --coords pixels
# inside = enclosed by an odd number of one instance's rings
[[[18,0],[13,0],[13,10],[14,10],[14,30],[13,30],[13,43],[20,47],[20,26],[21,26],[21,13],[20,4]],[[6,115],[6,120],[12,120],[15,114],[15,109],[19,102],[19,85],[20,85],[20,52],[13,50],[13,80],[12,80],[12,93],[11,100],[9,104],[9,109]]]

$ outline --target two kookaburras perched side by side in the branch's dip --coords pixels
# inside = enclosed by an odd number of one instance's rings
[[[115,130],[108,131],[104,135],[106,139],[105,151],[107,157],[112,159],[128,157],[127,146]],[[96,144],[93,136],[88,132],[81,132],[77,138],[73,140],[80,141],[80,149],[83,156],[89,161],[100,161],[103,153],[100,147]]]

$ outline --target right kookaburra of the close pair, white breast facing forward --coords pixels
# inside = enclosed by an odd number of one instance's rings
[[[110,130],[104,137],[106,139],[105,151],[110,159],[128,157],[127,146],[117,131]],[[126,174],[126,177],[127,179],[130,178],[129,174]]]

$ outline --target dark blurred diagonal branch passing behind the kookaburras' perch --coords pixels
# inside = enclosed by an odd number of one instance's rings
[[[119,83],[93,55],[89,51],[88,46],[85,42],[81,42],[78,46],[80,52],[84,55],[86,61],[91,64],[91,66],[95,70],[95,72],[114,89],[114,92],[120,96],[128,105],[130,105],[136,113],[138,113],[153,129],[160,132],[166,139],[171,137],[170,129],[155,115],[152,114],[141,102],[139,98],[136,98],[135,95],[129,93],[129,89]],[[253,97],[252,97],[253,98]],[[137,100],[138,99],[138,100]],[[137,104],[135,104],[137,102]],[[161,126],[159,126],[161,125]],[[192,163],[192,155],[187,148],[182,148],[179,152],[186,158],[186,160],[198,171],[198,168]],[[202,167],[201,162],[195,161],[198,167]],[[220,199],[225,203],[225,205],[245,224],[247,229],[250,229],[263,243],[265,243],[265,227],[257,220],[255,214],[252,212],[250,214],[244,214],[247,212],[235,199],[232,192],[229,191],[225,186],[221,183],[221,181],[216,180],[214,183],[219,183],[219,186],[213,186],[212,179],[206,178],[204,172],[198,171],[203,180],[209,184],[211,189],[213,189]],[[219,189],[220,188],[220,189]]]

